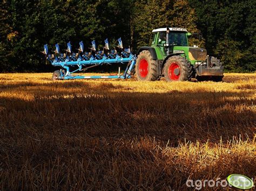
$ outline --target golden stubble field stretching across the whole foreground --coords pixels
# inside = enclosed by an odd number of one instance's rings
[[[255,179],[255,78],[0,74],[0,190],[187,190],[187,179]]]

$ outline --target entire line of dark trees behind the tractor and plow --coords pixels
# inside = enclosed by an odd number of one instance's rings
[[[207,48],[232,72],[256,69],[256,4],[254,0],[44,0],[0,3],[0,72],[42,72],[50,69],[39,52],[43,45],[61,49],[80,40],[99,48],[108,38],[122,37],[136,53],[150,45],[158,27],[186,27],[202,33],[190,45]]]

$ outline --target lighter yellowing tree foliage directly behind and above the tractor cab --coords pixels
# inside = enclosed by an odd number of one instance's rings
[[[158,27],[185,27],[192,33],[198,33],[196,16],[188,2],[181,1],[137,1],[135,3],[134,25],[137,34],[137,47],[150,45],[152,30]],[[190,44],[204,46],[204,41],[190,38]]]

